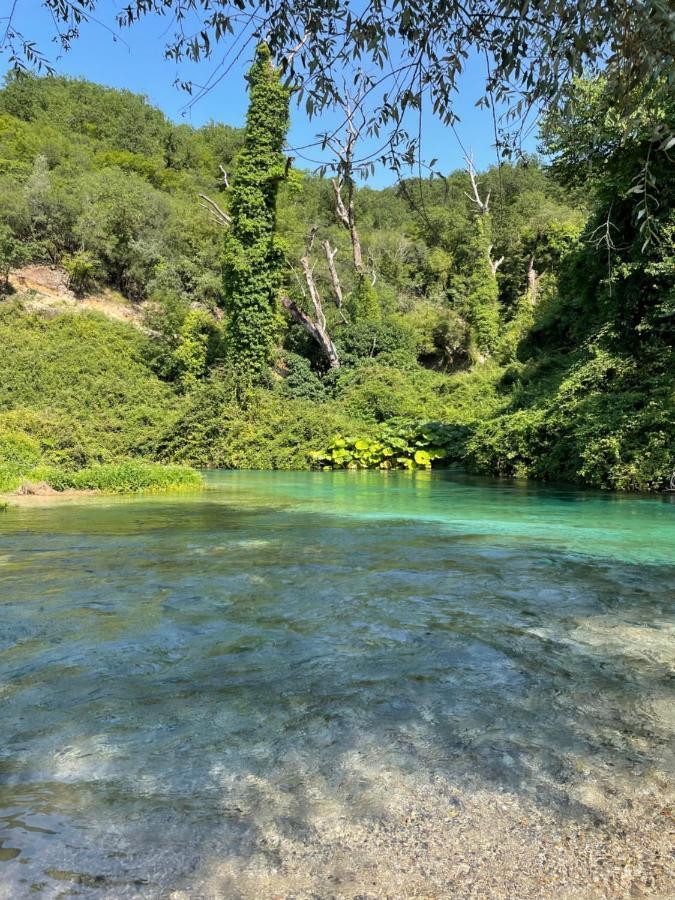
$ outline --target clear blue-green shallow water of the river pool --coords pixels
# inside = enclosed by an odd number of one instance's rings
[[[377,817],[379,771],[631,802],[672,771],[674,638],[667,497],[227,472],[9,510],[0,896],[275,865],[270,830]]]

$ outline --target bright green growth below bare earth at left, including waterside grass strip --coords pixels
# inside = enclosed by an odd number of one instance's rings
[[[0,308],[0,492],[24,482],[113,493],[201,482],[142,458],[176,415],[171,389],[143,361],[145,340],[99,315]]]

